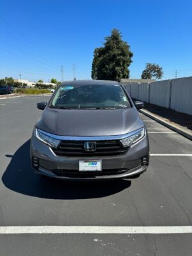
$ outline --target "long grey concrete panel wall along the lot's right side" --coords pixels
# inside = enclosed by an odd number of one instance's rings
[[[192,77],[125,86],[136,100],[192,115]]]

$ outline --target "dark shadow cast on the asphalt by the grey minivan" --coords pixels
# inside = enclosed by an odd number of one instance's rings
[[[72,182],[59,179],[42,178],[31,169],[30,140],[15,152],[3,174],[6,188],[23,195],[50,199],[85,199],[113,195],[129,186],[130,180],[102,182]]]

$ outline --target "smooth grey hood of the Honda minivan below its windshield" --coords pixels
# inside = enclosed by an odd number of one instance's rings
[[[62,136],[120,135],[143,127],[134,108],[129,109],[52,109],[45,108],[36,127]]]

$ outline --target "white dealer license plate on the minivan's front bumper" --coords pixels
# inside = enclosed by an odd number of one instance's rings
[[[79,161],[79,172],[100,172],[101,160]]]

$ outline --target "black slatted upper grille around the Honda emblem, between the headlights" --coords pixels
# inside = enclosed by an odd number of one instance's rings
[[[97,148],[95,152],[84,150],[86,141],[61,141],[58,148],[52,148],[57,156],[92,157],[92,156],[117,156],[127,151],[118,140],[95,141]]]

